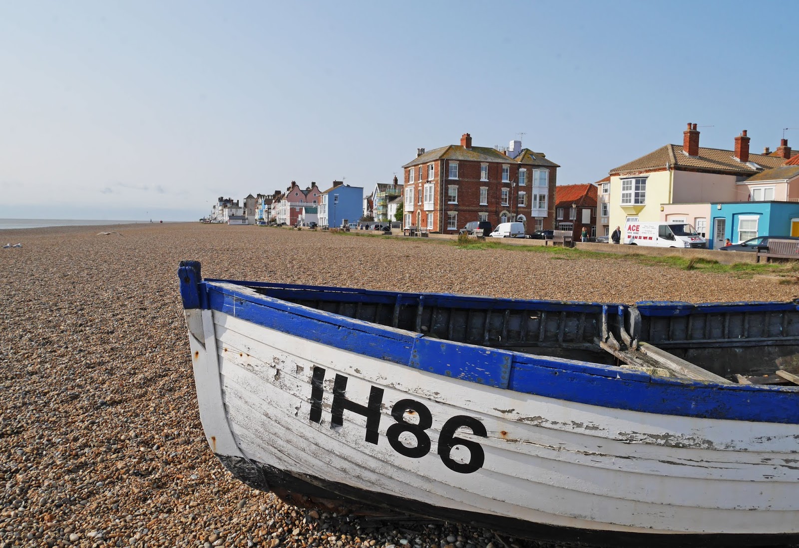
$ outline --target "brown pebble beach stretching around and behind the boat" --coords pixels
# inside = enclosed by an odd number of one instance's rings
[[[107,233],[107,234],[105,234]],[[538,544],[281,503],[234,479],[197,412],[177,286],[208,278],[631,303],[789,300],[799,286],[434,239],[201,223],[0,231],[0,548]]]

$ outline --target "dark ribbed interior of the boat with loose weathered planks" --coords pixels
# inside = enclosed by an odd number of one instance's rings
[[[627,306],[314,286],[250,287],[268,297],[447,341],[661,377],[799,385],[797,302]]]

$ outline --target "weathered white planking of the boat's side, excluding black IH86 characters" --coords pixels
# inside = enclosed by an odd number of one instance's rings
[[[209,309],[187,309],[201,419],[213,451],[298,477],[324,479],[421,505],[577,530],[646,534],[797,534],[796,424],[754,423],[605,408],[492,388],[280,333]],[[195,329],[191,329],[192,325]],[[194,333],[194,334],[192,334]],[[199,337],[197,333],[202,333]],[[205,339],[202,341],[201,339]],[[321,421],[312,415],[323,368]],[[383,397],[377,443],[365,416],[331,427],[332,382],[346,398]],[[420,458],[389,443],[391,410],[412,399],[431,412]],[[437,451],[442,425],[471,416],[487,430],[457,432],[483,448],[459,473]],[[408,422],[418,421],[418,417]],[[415,447],[407,434],[400,441]],[[468,462],[463,445],[451,449]]]

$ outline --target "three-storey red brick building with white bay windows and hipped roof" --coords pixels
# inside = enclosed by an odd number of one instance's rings
[[[551,229],[559,167],[519,140],[507,151],[473,147],[468,133],[460,145],[419,148],[403,165],[403,226],[457,234],[470,221],[496,226],[518,220],[527,234]]]

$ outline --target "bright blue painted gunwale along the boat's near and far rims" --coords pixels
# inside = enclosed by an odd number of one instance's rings
[[[231,290],[217,286],[215,282],[253,288],[272,287],[322,292],[329,290],[338,294],[358,295],[361,301],[390,297],[392,298],[390,302],[393,303],[397,298],[396,292],[389,291],[209,279],[197,284],[199,298],[188,301],[184,299],[184,306],[189,308],[187,304],[199,302],[199,306],[193,307],[228,313],[257,325],[364,356],[515,392],[662,415],[799,424],[799,394],[796,388],[756,384],[714,384],[696,380],[651,377],[646,373],[605,367],[585,361],[537,357],[454,341],[430,339],[420,333],[375,325],[285,302],[278,298]],[[182,277],[181,286],[183,286]],[[452,306],[455,306],[454,303],[459,303],[457,306],[464,308],[468,308],[470,303],[479,303],[481,306],[493,303],[493,306],[498,306],[499,301],[451,294],[417,294],[409,302],[417,302],[416,298],[419,295],[424,296],[426,303],[428,299],[429,302],[439,299],[442,303],[453,303]],[[590,309],[602,306],[598,303],[516,299],[503,300],[503,306],[514,302],[518,303],[519,308],[530,307],[532,303],[535,303],[535,306],[552,306],[553,309],[560,309],[559,306],[574,306],[584,310],[581,305],[587,305]],[[658,305],[657,310],[666,311],[669,307],[674,308],[675,303],[652,304]],[[684,304],[690,303],[682,303]],[[718,303],[710,304],[721,306]],[[743,303],[734,304],[740,306]],[[791,309],[781,308],[786,303],[756,304],[773,306],[773,309],[777,310]],[[682,310],[680,308],[682,305],[677,303],[675,309]],[[795,309],[795,304],[792,306]],[[623,308],[624,306],[619,306],[619,311]]]

